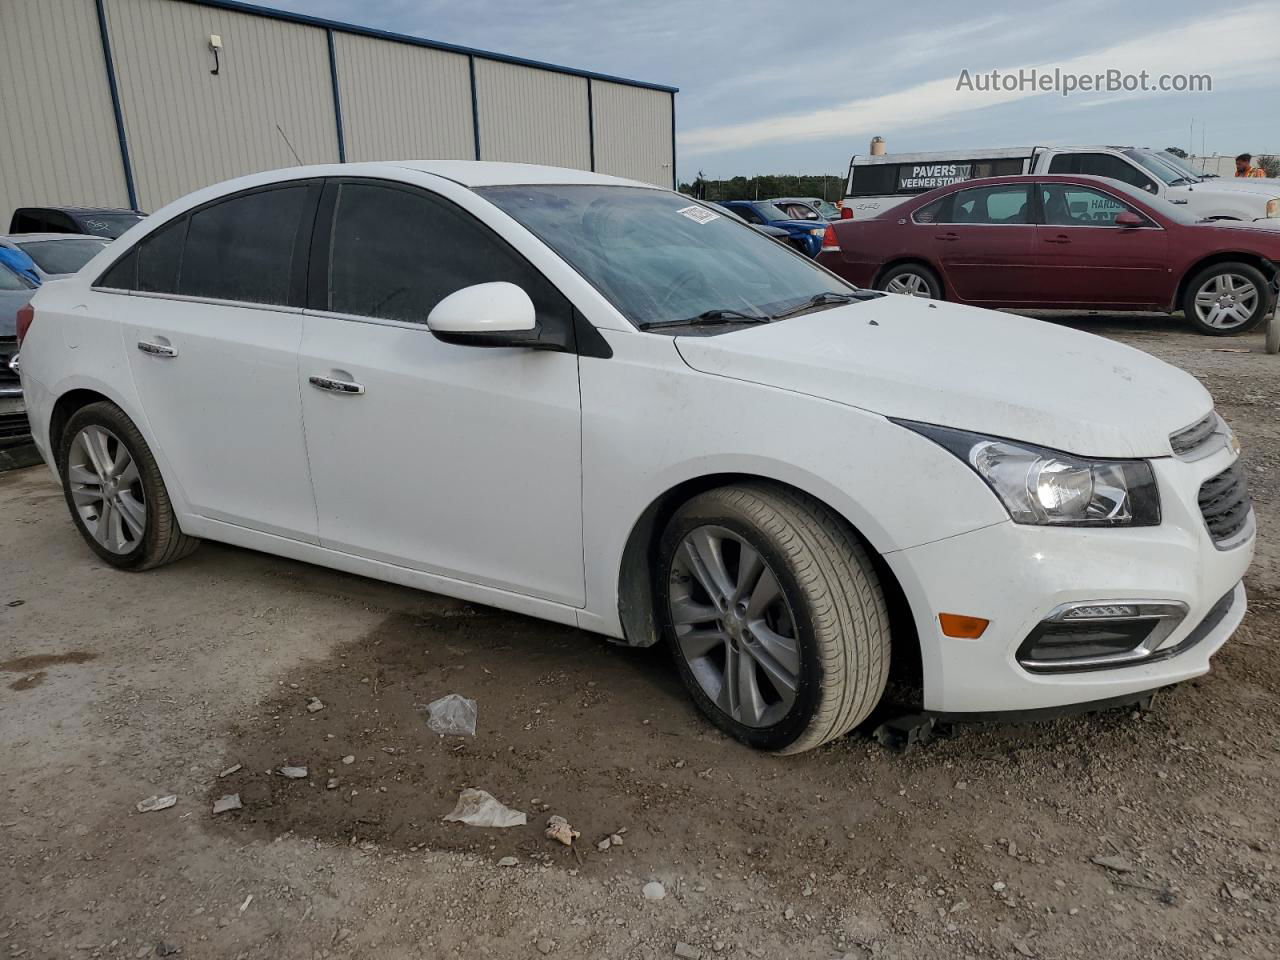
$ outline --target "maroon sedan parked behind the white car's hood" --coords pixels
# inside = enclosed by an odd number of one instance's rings
[[[1117,180],[1062,175],[965,180],[838,220],[818,256],[859,287],[983,307],[1180,308],[1213,335],[1262,323],[1277,261],[1268,221],[1199,223]]]

